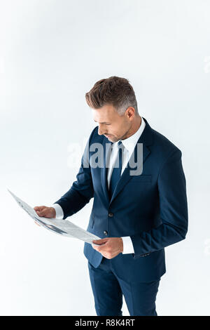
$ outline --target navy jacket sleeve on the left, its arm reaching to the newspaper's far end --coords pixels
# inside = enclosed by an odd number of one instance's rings
[[[73,182],[69,191],[67,191],[60,199],[55,202],[62,207],[64,218],[71,216],[73,213],[78,212],[85,206],[94,195],[92,185],[92,174],[89,164],[89,146],[92,136],[97,127],[92,131],[90,138],[87,141],[85,151],[81,160],[80,169],[76,175],[76,181]]]

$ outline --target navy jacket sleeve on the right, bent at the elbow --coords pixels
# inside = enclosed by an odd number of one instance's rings
[[[170,152],[160,168],[158,191],[162,224],[152,230],[131,236],[134,258],[158,251],[186,238],[188,231],[186,178],[181,162],[181,150],[177,147]]]

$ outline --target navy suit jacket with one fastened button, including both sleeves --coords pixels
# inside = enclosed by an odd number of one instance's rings
[[[145,118],[144,121],[146,126],[138,140],[143,143],[141,175],[130,176],[128,163],[109,200],[105,145],[111,142],[99,136],[96,126],[87,142],[76,181],[55,202],[62,206],[65,219],[94,198],[87,230],[101,238],[131,237],[134,253],[119,253],[110,259],[113,269],[131,282],[153,281],[165,274],[165,247],[185,239],[188,231],[181,150],[151,128]],[[87,166],[94,154],[87,151],[92,143],[104,146],[104,167]],[[86,242],[84,254],[95,268],[102,261],[102,254]]]

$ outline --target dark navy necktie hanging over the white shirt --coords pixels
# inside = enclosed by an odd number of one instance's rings
[[[111,200],[111,197],[113,195],[113,192],[116,188],[116,185],[118,183],[118,180],[120,179],[121,171],[122,171],[122,152],[123,152],[124,146],[121,141],[118,142],[118,156],[116,158],[116,162],[113,167],[113,172],[111,174],[111,179],[109,183],[109,199]],[[119,162],[118,162],[119,160]],[[118,166],[119,164],[119,166]],[[117,166],[117,167],[116,167]]]

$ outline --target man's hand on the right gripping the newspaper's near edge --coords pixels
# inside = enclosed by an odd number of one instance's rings
[[[93,244],[100,244],[99,246],[92,245],[93,249],[102,253],[107,259],[112,259],[120,252],[123,252],[123,239],[122,237],[107,237],[102,239],[94,239]]]

